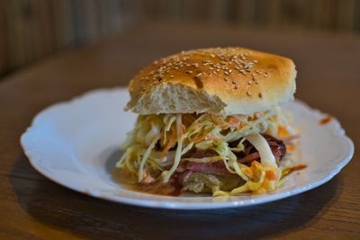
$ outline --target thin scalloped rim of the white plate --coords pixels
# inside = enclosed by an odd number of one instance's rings
[[[31,166],[37,172],[41,173],[43,176],[45,176],[52,182],[58,183],[58,184],[66,187],[68,189],[71,189],[73,191],[82,192],[86,195],[89,195],[89,196],[92,196],[95,198],[99,198],[99,199],[103,199],[103,200],[111,200],[113,202],[130,204],[130,205],[140,206],[140,207],[158,208],[158,209],[222,209],[222,208],[246,207],[246,206],[250,206],[250,205],[263,204],[266,202],[270,202],[270,201],[274,201],[274,200],[281,200],[281,199],[284,199],[287,197],[295,196],[304,191],[310,191],[311,189],[314,189],[314,188],[324,184],[325,182],[329,182],[329,180],[331,180],[335,175],[337,175],[341,171],[341,169],[350,162],[351,158],[354,155],[355,147],[354,147],[353,141],[347,137],[347,135],[345,133],[345,129],[342,129],[339,121],[334,118],[333,121],[335,122],[335,125],[337,126],[337,129],[336,129],[337,136],[339,138],[343,138],[344,142],[347,145],[347,149],[348,149],[347,154],[345,154],[340,159],[338,165],[334,166],[327,176],[320,178],[320,180],[318,180],[317,182],[314,182],[313,184],[309,184],[302,188],[295,188],[291,191],[278,192],[278,193],[274,193],[274,194],[264,194],[264,197],[257,198],[255,200],[251,200],[250,202],[248,200],[225,200],[225,201],[220,201],[220,202],[182,202],[182,201],[176,200],[176,197],[163,197],[166,200],[159,201],[159,200],[141,200],[141,199],[137,200],[137,199],[133,199],[133,198],[121,197],[121,195],[109,196],[109,195],[99,194],[98,191],[87,190],[86,188],[84,188],[82,186],[78,186],[76,184],[68,184],[68,182],[65,183],[61,180],[53,178],[46,171],[43,171],[41,169],[41,167],[36,163],[36,161],[38,161],[38,159],[37,159],[38,157],[36,156],[36,153],[33,151],[33,149],[31,150],[31,147],[27,146],[27,144],[26,144],[26,138],[28,138],[31,135],[32,131],[36,129],[37,121],[41,118],[41,116],[43,116],[43,114],[45,114],[46,112],[53,111],[54,109],[56,109],[58,107],[71,106],[73,103],[81,102],[93,94],[116,93],[119,91],[127,91],[127,89],[122,88],[122,87],[94,89],[92,91],[82,93],[68,101],[57,102],[55,104],[52,104],[49,107],[46,107],[45,109],[40,111],[38,114],[36,114],[36,116],[31,121],[31,126],[25,130],[25,132],[23,133],[21,140],[20,140],[21,146],[23,147],[24,154],[25,154],[25,156],[27,156],[29,158],[29,162],[31,163]],[[302,107],[306,108],[307,110],[312,111],[314,114],[325,115],[324,112],[311,108],[307,103],[302,102],[301,100],[297,99],[295,102],[299,103],[300,105],[302,105]],[[129,191],[129,190],[123,190],[123,191]],[[145,193],[143,193],[143,194],[145,194]],[[146,194],[146,195],[148,195],[148,194]],[[169,198],[170,198],[170,200],[167,200]],[[244,204],[244,201],[246,202],[245,204]]]

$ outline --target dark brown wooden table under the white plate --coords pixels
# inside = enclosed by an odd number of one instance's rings
[[[90,89],[125,85],[156,58],[210,46],[245,46],[293,58],[297,97],[337,116],[360,147],[359,36],[142,25],[25,67],[0,84],[0,239],[360,239],[357,154],[330,182],[301,195],[244,209],[197,211],[93,199],[49,182],[23,155],[19,138],[44,107]]]

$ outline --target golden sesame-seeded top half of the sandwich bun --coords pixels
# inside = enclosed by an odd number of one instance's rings
[[[266,111],[293,100],[289,58],[243,48],[194,49],[161,58],[130,81],[125,107],[142,115]]]

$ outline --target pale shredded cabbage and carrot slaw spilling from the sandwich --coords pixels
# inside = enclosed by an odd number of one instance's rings
[[[262,133],[276,137],[291,135],[294,129],[279,108],[232,116],[210,113],[140,115],[135,129],[128,133],[121,146],[125,153],[116,167],[128,169],[138,177],[139,182],[143,182],[144,176],[148,174],[151,179],[160,177],[163,182],[168,182],[182,161],[223,161],[229,173],[237,174],[243,183],[238,183],[237,187],[231,184],[230,189],[229,185],[225,187],[226,184],[211,185],[214,196],[274,191],[284,184],[284,179],[281,179],[281,169]],[[251,166],[238,163],[234,153],[244,151],[245,140],[257,148],[260,163],[253,161]],[[229,147],[229,143],[234,141],[238,141],[238,145]],[[209,150],[216,152],[217,156],[184,157],[190,151]],[[210,181],[209,176],[198,177],[196,181],[193,180],[196,182],[192,183],[193,186],[200,186],[199,179],[206,179],[208,183],[217,182],[215,178]],[[220,182],[223,181],[221,179]]]

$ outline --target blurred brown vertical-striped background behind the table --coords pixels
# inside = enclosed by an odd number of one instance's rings
[[[0,76],[151,21],[359,34],[360,0],[0,0]]]

